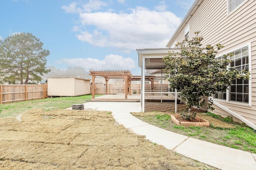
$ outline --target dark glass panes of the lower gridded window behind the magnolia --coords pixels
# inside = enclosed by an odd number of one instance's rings
[[[230,57],[230,66],[234,66],[237,70],[249,71],[249,49],[248,46],[242,47],[235,51],[232,51],[234,55]],[[217,57],[216,60],[222,60]],[[235,79],[232,80],[232,85],[229,87],[229,98],[226,98],[226,92],[217,92],[214,94],[214,98],[228,100],[232,102],[249,103],[249,80]]]

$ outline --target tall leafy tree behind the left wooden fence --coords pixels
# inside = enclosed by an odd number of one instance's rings
[[[9,84],[39,82],[46,69],[46,57],[50,51],[42,48],[43,43],[31,33],[18,33],[0,41],[0,70],[3,81]],[[24,81],[25,80],[25,81]]]

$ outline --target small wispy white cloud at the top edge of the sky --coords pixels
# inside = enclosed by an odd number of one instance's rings
[[[72,2],[68,6],[63,5],[61,8],[67,13],[80,13],[98,11],[107,5],[108,4],[106,2],[102,2],[100,0],[90,0],[87,4],[82,4],[82,8],[78,7],[76,2]]]

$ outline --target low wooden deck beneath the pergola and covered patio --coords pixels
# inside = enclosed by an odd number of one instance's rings
[[[174,96],[162,95],[162,102],[174,102]],[[115,101],[115,102],[140,102],[140,94],[131,94],[125,99],[124,94],[115,94],[115,95],[104,95],[96,98],[91,98],[91,101]],[[161,94],[155,95],[145,95],[146,102],[160,102]]]

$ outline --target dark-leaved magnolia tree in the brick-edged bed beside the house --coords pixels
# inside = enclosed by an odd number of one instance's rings
[[[186,100],[188,114],[184,118],[187,120],[194,118],[191,107],[198,106],[202,98],[212,96],[216,92],[224,92],[232,84],[232,80],[246,80],[250,74],[246,70],[240,72],[234,67],[228,68],[232,53],[224,55],[222,61],[217,61],[216,53],[224,46],[217,44],[216,49],[211,45],[201,48],[203,37],[199,37],[198,33],[195,32],[195,37],[191,40],[185,39],[176,44],[180,53],[170,52],[163,59],[170,88],[176,88]],[[213,109],[212,102],[209,102],[209,105]]]

